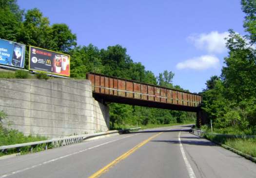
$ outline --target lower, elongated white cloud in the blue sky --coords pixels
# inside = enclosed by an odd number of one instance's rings
[[[177,69],[194,69],[194,70],[205,70],[208,68],[217,68],[219,66],[219,59],[213,55],[203,55],[195,57],[176,65]]]

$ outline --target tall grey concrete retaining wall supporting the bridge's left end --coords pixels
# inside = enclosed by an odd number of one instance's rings
[[[0,110],[8,114],[5,127],[26,135],[54,138],[109,128],[109,109],[92,97],[88,80],[0,79]]]

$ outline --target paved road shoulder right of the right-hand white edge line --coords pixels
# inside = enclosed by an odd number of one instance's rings
[[[254,178],[256,164],[209,140],[182,132],[181,143],[197,178]]]

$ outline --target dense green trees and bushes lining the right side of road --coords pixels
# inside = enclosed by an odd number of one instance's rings
[[[228,56],[221,75],[206,82],[203,109],[217,129],[233,127],[256,134],[256,0],[242,0],[241,4],[248,34],[229,30]]]

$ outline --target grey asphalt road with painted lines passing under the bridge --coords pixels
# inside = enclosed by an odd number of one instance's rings
[[[0,178],[256,178],[256,164],[188,133],[150,129],[0,160]]]

